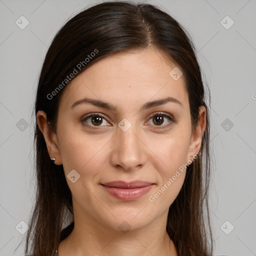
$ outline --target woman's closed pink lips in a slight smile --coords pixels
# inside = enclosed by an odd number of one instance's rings
[[[101,184],[111,195],[121,200],[135,200],[147,193],[154,185],[151,182],[135,180],[132,182],[112,181]]]

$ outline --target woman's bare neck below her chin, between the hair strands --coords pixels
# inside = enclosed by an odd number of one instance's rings
[[[147,226],[121,231],[89,216],[77,217],[72,232],[59,244],[58,256],[112,256],[113,252],[119,256],[177,256],[166,232],[166,220],[167,212]]]

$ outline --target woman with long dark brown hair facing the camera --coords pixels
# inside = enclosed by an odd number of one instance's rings
[[[193,43],[169,14],[115,1],[68,20],[35,115],[25,253],[212,254],[208,107]]]

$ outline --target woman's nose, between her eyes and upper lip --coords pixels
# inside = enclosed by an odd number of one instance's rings
[[[113,166],[126,171],[141,168],[147,159],[146,146],[135,125],[126,131],[117,127],[112,140],[111,163]]]

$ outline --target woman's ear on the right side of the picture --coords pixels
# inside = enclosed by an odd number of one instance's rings
[[[196,127],[192,131],[189,147],[188,147],[188,154],[187,154],[187,162],[191,161],[191,158],[196,156],[196,153],[200,150],[201,141],[203,132],[206,127],[206,108],[204,106],[199,106],[199,118]]]

